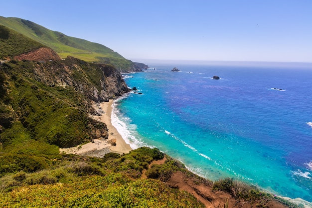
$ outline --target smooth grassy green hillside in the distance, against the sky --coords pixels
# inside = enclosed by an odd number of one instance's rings
[[[119,53],[99,43],[70,37],[29,20],[0,16],[0,24],[52,48],[61,58],[68,55],[88,62],[112,64],[120,71],[138,71],[139,67]]]

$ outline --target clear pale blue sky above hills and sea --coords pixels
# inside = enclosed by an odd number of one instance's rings
[[[0,15],[133,61],[312,62],[312,0],[5,0]]]

